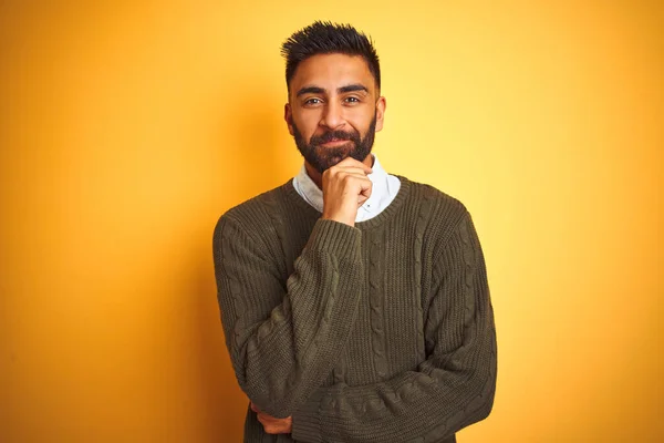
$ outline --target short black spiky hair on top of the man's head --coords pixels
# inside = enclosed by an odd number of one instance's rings
[[[293,33],[281,45],[289,91],[300,63],[312,55],[333,53],[362,56],[376,81],[376,86],[381,89],[381,65],[372,39],[350,24],[319,20]]]

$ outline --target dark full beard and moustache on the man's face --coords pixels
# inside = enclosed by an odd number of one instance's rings
[[[321,135],[312,135],[309,143],[307,143],[292,117],[290,123],[293,126],[293,138],[295,140],[295,145],[298,145],[298,151],[321,174],[346,157],[353,157],[357,162],[362,162],[371,154],[376,134],[375,113],[364,137],[361,137],[359,131],[329,131]],[[323,143],[333,140],[347,141],[347,143],[333,147],[321,146]]]

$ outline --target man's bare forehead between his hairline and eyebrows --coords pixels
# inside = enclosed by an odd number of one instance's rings
[[[319,86],[333,91],[355,83],[365,85],[370,91],[375,87],[373,74],[362,56],[318,54],[298,65],[291,80],[291,91],[297,92],[304,86]]]

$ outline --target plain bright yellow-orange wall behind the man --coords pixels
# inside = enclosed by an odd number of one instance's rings
[[[0,441],[240,441],[211,234],[300,166],[315,19],[376,42],[383,165],[474,215],[499,379],[459,441],[658,441],[661,1],[137,3],[0,6]]]

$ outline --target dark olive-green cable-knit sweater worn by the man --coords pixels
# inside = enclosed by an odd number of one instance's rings
[[[246,442],[453,442],[485,419],[496,334],[484,256],[464,205],[400,177],[351,227],[292,182],[222,215],[214,259],[226,344],[258,408],[292,416]]]

